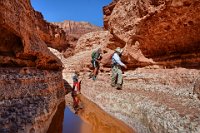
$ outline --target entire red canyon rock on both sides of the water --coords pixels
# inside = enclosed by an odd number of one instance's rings
[[[76,70],[81,95],[135,132],[199,133],[199,12],[199,0],[113,0],[103,7],[104,30],[90,31],[85,22],[46,22],[29,0],[1,0],[0,132],[47,132],[65,99],[64,80],[71,83]],[[117,47],[128,66],[122,90],[110,85],[109,55]],[[93,81],[98,48],[103,58]]]

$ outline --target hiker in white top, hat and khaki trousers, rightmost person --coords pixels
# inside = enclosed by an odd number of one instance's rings
[[[121,48],[116,48],[115,53],[112,56],[112,87],[117,87],[117,89],[122,88],[123,78],[121,66],[127,68],[127,66],[121,62],[120,56],[123,50]]]

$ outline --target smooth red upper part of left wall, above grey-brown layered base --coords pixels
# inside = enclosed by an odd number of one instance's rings
[[[56,36],[63,37],[64,32],[45,22],[29,0],[0,1],[0,31],[1,66],[62,69],[46,43],[56,43]]]

